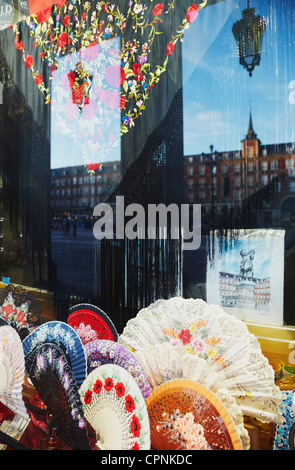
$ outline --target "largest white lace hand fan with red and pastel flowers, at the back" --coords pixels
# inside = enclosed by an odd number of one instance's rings
[[[278,420],[282,394],[257,338],[216,305],[178,297],[158,300],[127,322],[118,342],[133,351],[165,342],[178,346],[206,361],[214,381],[230,392],[244,414]]]

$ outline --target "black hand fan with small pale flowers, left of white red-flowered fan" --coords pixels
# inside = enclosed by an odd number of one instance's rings
[[[90,450],[77,382],[64,350],[38,344],[25,357],[26,370],[46,407],[51,429],[74,450]]]

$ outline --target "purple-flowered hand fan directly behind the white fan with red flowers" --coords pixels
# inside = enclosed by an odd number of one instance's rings
[[[96,340],[84,346],[88,374],[102,364],[116,364],[126,369],[139,386],[144,398],[151,393],[146,373],[134,354],[115,341]]]

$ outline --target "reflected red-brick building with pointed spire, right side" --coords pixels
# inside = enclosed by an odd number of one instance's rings
[[[251,112],[241,149],[215,151],[212,174],[206,164],[212,158],[211,153],[184,158],[186,202],[202,204],[204,213],[209,214],[213,189],[214,209],[220,226],[243,226],[245,223],[281,226],[295,216],[294,143],[261,143],[254,131]]]

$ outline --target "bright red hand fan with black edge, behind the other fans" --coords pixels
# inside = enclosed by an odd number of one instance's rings
[[[96,339],[117,341],[118,333],[108,315],[91,304],[78,304],[69,309],[67,323],[78,333],[83,344]]]

